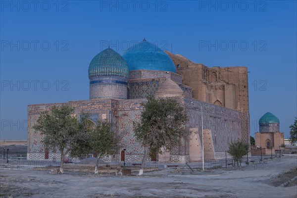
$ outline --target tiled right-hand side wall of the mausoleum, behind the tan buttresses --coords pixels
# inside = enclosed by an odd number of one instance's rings
[[[216,152],[228,150],[229,143],[231,143],[231,141],[247,137],[243,137],[243,135],[247,133],[247,125],[243,125],[242,123],[246,123],[247,119],[245,119],[244,122],[241,122],[241,119],[243,118],[242,113],[198,101],[196,99],[185,98],[184,102],[185,109],[189,116],[188,127],[198,128],[200,140],[202,140],[202,105],[203,129],[211,129],[213,145]]]

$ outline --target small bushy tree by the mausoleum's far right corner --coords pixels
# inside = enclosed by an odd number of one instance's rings
[[[244,141],[232,142],[229,144],[227,152],[232,155],[235,161],[240,163],[241,167],[242,157],[248,153],[248,144]]]

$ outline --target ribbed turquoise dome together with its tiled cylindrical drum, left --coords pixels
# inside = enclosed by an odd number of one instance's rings
[[[127,99],[129,70],[124,58],[108,48],[89,66],[90,99]]]

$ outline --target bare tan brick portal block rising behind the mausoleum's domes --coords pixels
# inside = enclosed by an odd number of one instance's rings
[[[194,63],[188,58],[166,53],[171,57],[177,73],[182,76],[184,85],[192,87],[194,99],[213,103],[217,99],[224,105],[225,85],[234,85],[234,110],[249,112],[247,67],[207,67],[201,63]],[[222,89],[217,89],[221,87]],[[228,88],[227,88],[228,89]],[[227,91],[228,92],[228,91]],[[232,91],[233,92],[233,91]],[[227,93],[227,94],[231,94]],[[230,102],[229,102],[230,103]]]

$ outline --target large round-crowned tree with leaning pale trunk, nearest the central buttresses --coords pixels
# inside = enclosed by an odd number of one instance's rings
[[[148,148],[166,148],[170,151],[179,144],[181,138],[187,138],[190,134],[186,128],[188,116],[177,100],[148,97],[142,106],[141,119],[134,122],[135,137],[145,148],[139,175],[143,174]]]

